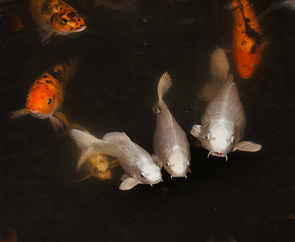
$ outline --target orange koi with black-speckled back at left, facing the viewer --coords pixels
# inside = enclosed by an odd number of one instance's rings
[[[6,115],[3,121],[10,122],[30,114],[38,119],[50,119],[55,132],[64,132],[65,124],[54,113],[64,101],[65,84],[73,76],[76,64],[70,61],[46,71],[30,88],[26,96],[26,108]]]

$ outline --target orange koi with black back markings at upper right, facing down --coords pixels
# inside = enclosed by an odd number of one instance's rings
[[[234,13],[234,60],[242,78],[250,78],[261,60],[262,32],[254,10],[247,0],[233,0],[228,5]]]

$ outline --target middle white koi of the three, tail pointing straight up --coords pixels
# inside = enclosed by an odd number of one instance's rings
[[[159,102],[154,107],[157,114],[157,126],[154,135],[154,160],[172,177],[186,177],[191,166],[190,145],[183,129],[179,126],[168,107],[163,96],[171,87],[171,79],[166,72],[158,85]]]

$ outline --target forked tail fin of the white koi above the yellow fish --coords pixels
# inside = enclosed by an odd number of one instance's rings
[[[81,157],[77,164],[78,171],[80,169],[80,166],[86,161],[88,157],[97,153],[94,150],[92,143],[94,141],[97,141],[98,139],[77,129],[70,129],[68,133],[75,140],[77,146],[79,146],[79,148],[82,150]]]

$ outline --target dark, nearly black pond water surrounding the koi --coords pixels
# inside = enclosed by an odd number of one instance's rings
[[[164,183],[119,189],[124,171],[104,181],[76,172],[80,151],[68,135],[57,135],[48,119],[28,115],[1,123],[0,229],[18,241],[208,241],[229,232],[240,241],[295,241],[295,13],[270,12],[260,21],[270,44],[254,78],[238,76],[227,54],[244,105],[244,140],[262,145],[254,153],[225,158],[193,146],[193,124],[206,102],[197,92],[210,78],[216,45],[232,45],[234,19],[227,1],[139,1],[136,12],[120,12],[92,1],[68,3],[89,19],[87,29],[42,46],[28,1],[2,3],[26,27],[0,32],[1,113],[25,107],[34,80],[60,60],[79,56],[79,72],[65,89],[60,109],[70,122],[102,138],[124,131],[152,154],[157,84],[168,71],[165,102],[191,144],[191,174]],[[253,0],[256,13],[270,1]],[[148,21],[142,21],[147,17]],[[196,21],[183,25],[187,18]],[[2,23],[3,24],[3,23]],[[144,45],[148,43],[148,45]]]

